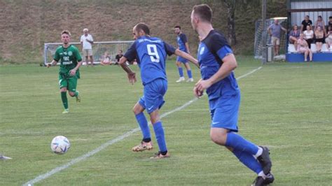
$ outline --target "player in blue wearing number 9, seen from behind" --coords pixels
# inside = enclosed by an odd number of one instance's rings
[[[135,73],[125,65],[125,62],[137,59],[137,63],[141,69],[141,80],[144,86],[144,95],[139,99],[133,108],[136,120],[141,128],[143,140],[132,150],[140,152],[143,150],[151,150],[150,129],[148,122],[143,113],[147,110],[150,115],[151,124],[155,131],[155,138],[159,146],[159,152],[153,159],[170,157],[167,152],[164,129],[160,121],[159,109],[165,103],[164,95],[167,91],[167,77],[165,71],[165,62],[167,55],[178,55],[184,57],[194,64],[198,65],[198,61],[188,55],[186,52],[175,49],[172,45],[168,45],[160,38],[150,36],[150,29],[144,23],[139,23],[132,29],[134,39],[136,40],[132,46],[121,57],[119,64],[127,72],[130,83],[136,82]]]

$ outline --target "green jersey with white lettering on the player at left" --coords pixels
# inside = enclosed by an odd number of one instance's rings
[[[70,78],[69,71],[74,69],[77,62],[82,61],[82,57],[78,49],[74,45],[69,45],[68,48],[64,48],[63,45],[57,48],[54,55],[54,60],[60,62],[60,76],[64,78]],[[77,69],[76,78],[80,78],[80,71]]]

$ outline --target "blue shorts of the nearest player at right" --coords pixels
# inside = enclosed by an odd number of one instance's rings
[[[221,96],[209,101],[211,127],[238,131],[237,118],[239,116],[241,94]]]

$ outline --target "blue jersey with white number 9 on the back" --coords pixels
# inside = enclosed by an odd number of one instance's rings
[[[141,80],[143,85],[162,78],[167,80],[165,62],[167,55],[172,55],[175,48],[162,41],[160,38],[141,36],[125,52],[128,61],[137,59],[141,69]]]

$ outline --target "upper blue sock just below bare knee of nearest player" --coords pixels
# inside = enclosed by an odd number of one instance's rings
[[[234,132],[228,132],[226,146],[233,148],[233,150],[247,152],[249,155],[256,155],[258,152],[257,145],[247,141],[242,136],[235,134]]]

